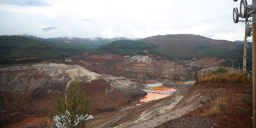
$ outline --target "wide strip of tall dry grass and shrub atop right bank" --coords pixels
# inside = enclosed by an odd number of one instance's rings
[[[221,83],[248,83],[251,79],[243,73],[228,73],[224,68],[218,68],[216,71],[206,75],[199,75],[196,84],[221,82]]]

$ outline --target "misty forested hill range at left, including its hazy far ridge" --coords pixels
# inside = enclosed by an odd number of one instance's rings
[[[126,39],[124,37],[97,37],[92,39],[58,37],[44,39],[31,35],[0,36],[0,65],[37,62],[49,58],[63,59],[74,55],[76,58],[81,58],[84,52],[91,52],[105,43]],[[134,38],[133,40],[138,39]]]

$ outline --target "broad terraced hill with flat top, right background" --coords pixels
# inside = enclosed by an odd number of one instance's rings
[[[215,40],[200,35],[178,34],[157,35],[141,39],[144,42],[155,43],[157,51],[172,58],[184,60],[196,57],[216,56],[230,58],[242,44],[227,40]]]

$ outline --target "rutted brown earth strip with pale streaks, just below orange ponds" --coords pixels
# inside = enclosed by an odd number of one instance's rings
[[[179,92],[169,97],[153,100],[142,106],[125,106],[116,110],[112,115],[104,118],[88,120],[88,128],[117,127],[122,128],[127,125],[135,124],[151,117],[169,111],[175,104],[182,99]],[[120,125],[121,124],[121,125]]]

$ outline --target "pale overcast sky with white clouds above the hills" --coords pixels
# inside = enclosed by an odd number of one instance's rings
[[[233,7],[239,7],[239,3],[240,0],[0,0],[0,35],[145,38],[196,34],[243,40],[244,24],[235,24],[232,17]],[[42,30],[49,27],[56,28]]]

